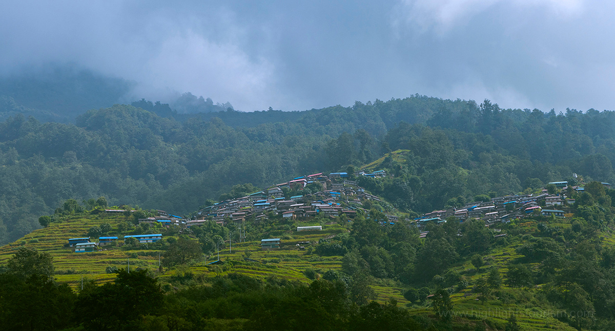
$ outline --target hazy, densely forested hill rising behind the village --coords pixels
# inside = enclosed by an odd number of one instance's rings
[[[38,217],[68,198],[104,195],[110,204],[185,214],[235,184],[264,187],[397,149],[410,152],[382,163],[394,177],[368,189],[405,211],[535,189],[573,173],[615,181],[613,112],[545,114],[415,95],[284,114],[284,122],[276,111],[214,114],[179,121],[116,105],[76,124],[18,114],[1,122],[0,244],[38,228]]]

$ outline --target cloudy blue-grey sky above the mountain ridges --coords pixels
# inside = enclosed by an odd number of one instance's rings
[[[0,74],[77,64],[240,111],[490,99],[615,109],[615,2],[2,1]]]

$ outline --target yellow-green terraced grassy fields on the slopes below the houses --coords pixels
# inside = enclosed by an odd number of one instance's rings
[[[84,236],[89,227],[100,225],[103,222],[115,225],[124,220],[123,216],[99,215],[89,217],[73,217],[66,222],[52,224],[48,228],[36,230],[22,239],[14,243],[0,247],[0,264],[6,263],[6,260],[22,246],[25,245],[49,252],[54,257],[54,263],[59,275],[56,278],[60,282],[67,282],[73,287],[77,287],[84,276],[85,279],[93,279],[97,282],[107,282],[114,278],[114,274],[107,274],[105,268],[113,265],[119,268],[124,268],[129,258],[129,255],[135,252],[144,251],[122,251],[117,247],[100,251],[96,253],[73,253],[68,247],[63,247],[67,243],[68,238],[76,238]],[[563,221],[559,224],[561,227],[569,226]],[[115,229],[114,229],[115,230]],[[535,230],[535,225],[527,227],[528,232]],[[223,267],[206,266],[206,262],[197,263],[192,266],[189,271],[196,275],[213,277],[223,275],[225,273],[242,273],[257,278],[266,278],[268,276],[279,276],[287,279],[295,279],[301,282],[310,282],[311,280],[304,276],[303,271],[306,268],[314,268],[321,273],[327,270],[339,270],[341,268],[341,256],[320,257],[316,254],[308,254],[309,250],[299,251],[295,249],[295,244],[299,241],[310,241],[315,244],[318,239],[325,236],[334,235],[347,231],[340,225],[325,225],[321,232],[293,232],[288,231],[287,234],[293,239],[286,239],[282,242],[285,244],[284,249],[279,251],[262,251],[258,241],[250,241],[246,243],[233,243],[232,250],[229,252],[228,246],[220,251],[220,259],[226,263]],[[38,239],[38,243],[31,242],[33,239]],[[609,236],[606,242],[613,241]],[[498,247],[490,252],[491,265],[498,265],[501,273],[507,271],[509,263],[514,263],[515,259],[520,257],[516,254],[515,247],[520,243],[512,243],[508,246]],[[308,246],[309,247],[309,246]],[[147,252],[147,251],[145,251]],[[145,267],[151,270],[156,270],[157,256],[139,256],[138,259],[130,259],[130,265],[135,267]],[[246,262],[244,257],[250,255],[250,259],[260,262]],[[216,259],[216,256],[210,257],[208,262]],[[261,263],[266,262],[266,263]],[[469,279],[470,284],[473,284],[480,276],[486,275],[488,268],[482,268],[480,273],[477,273],[472,267],[469,260],[459,262],[452,267]],[[76,270],[77,273],[66,275],[66,270]],[[159,276],[161,282],[166,284],[170,278],[181,276],[186,270],[168,270]],[[432,314],[431,308],[421,305],[411,305],[403,296],[401,291],[404,287],[399,282],[391,280],[376,279],[374,284],[377,300],[379,302],[387,302],[390,299],[395,299],[400,305],[405,305],[413,314]],[[488,300],[486,303],[477,301],[477,296],[472,294],[472,286],[462,290],[459,293],[451,295],[453,299],[454,309],[457,313],[475,314],[478,316],[477,322],[488,318],[491,326],[500,329],[506,323],[507,314],[510,311],[520,313],[519,321],[526,330],[573,330],[566,324],[557,321],[554,317],[543,316],[542,312],[549,310],[550,307],[541,307],[540,303],[536,302],[534,293],[538,289],[510,289],[504,286],[504,292],[514,295],[517,300],[512,300],[514,303],[504,303],[502,300]],[[464,317],[456,317],[464,318]],[[472,319],[472,317],[469,317]]]

